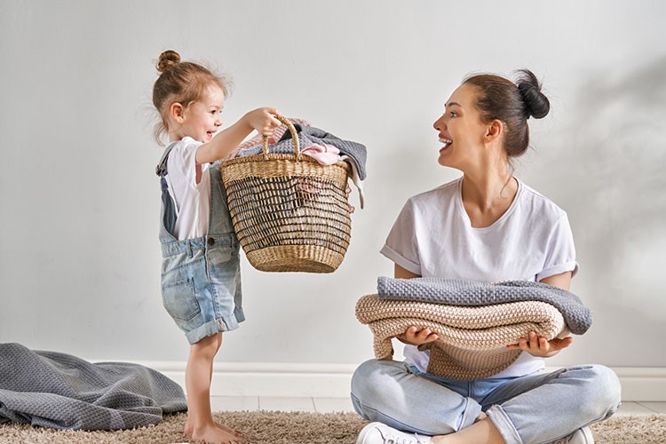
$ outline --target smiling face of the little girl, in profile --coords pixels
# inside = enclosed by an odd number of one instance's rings
[[[183,111],[183,122],[178,128],[178,139],[189,136],[194,140],[206,143],[222,125],[220,113],[225,107],[225,93],[217,86],[211,85],[207,93]]]

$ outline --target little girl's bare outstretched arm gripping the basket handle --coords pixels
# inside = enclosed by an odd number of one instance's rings
[[[196,150],[197,165],[217,162],[231,155],[253,130],[264,136],[272,135],[275,128],[281,125],[273,116],[277,114],[277,109],[263,107],[243,115],[238,122],[218,132],[210,142]]]

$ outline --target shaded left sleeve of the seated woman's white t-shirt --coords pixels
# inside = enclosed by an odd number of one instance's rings
[[[408,201],[402,207],[386,238],[384,247],[379,252],[408,272],[421,275],[415,220],[414,205]]]

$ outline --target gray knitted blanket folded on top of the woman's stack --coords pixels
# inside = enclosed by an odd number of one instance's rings
[[[518,301],[541,301],[555,306],[575,335],[583,335],[592,324],[592,312],[575,294],[532,281],[480,282],[440,278],[377,279],[382,299],[410,300],[445,305],[494,305]]]

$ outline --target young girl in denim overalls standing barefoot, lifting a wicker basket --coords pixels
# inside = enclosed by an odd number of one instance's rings
[[[242,313],[239,246],[226,208],[226,194],[216,165],[234,154],[257,130],[271,136],[281,123],[274,108],[250,111],[218,134],[226,85],[218,75],[178,52],[160,55],[162,73],[153,103],[162,117],[155,129],[168,136],[157,167],[162,183],[163,305],[190,343],[185,383],[185,433],[193,440],[240,443],[240,432],[213,421],[210,378],[222,332],[238,328]]]

